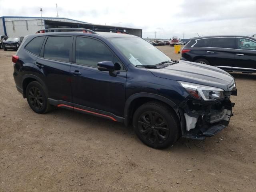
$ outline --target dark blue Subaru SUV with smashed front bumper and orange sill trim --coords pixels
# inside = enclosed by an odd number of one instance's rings
[[[12,57],[16,87],[36,113],[52,106],[133,125],[153,148],[225,128],[234,78],[208,65],[173,61],[147,41],[112,30],[40,30]]]

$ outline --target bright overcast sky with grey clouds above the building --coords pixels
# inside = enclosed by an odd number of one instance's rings
[[[0,0],[0,16],[42,16],[142,28],[143,37],[256,34],[256,0]]]

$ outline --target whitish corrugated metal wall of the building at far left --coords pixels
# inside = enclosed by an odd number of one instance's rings
[[[28,34],[36,33],[36,31],[44,28],[44,20],[34,19],[27,20],[28,22],[28,30],[26,26],[26,20],[12,20],[6,21],[6,32],[8,36],[26,36]]]

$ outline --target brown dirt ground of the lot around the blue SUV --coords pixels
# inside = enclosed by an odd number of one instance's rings
[[[256,74],[232,73],[238,96],[226,129],[155,150],[121,123],[64,109],[32,112],[15,88],[13,54],[0,50],[0,192],[256,191]]]

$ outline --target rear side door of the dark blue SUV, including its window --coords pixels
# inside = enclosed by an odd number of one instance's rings
[[[73,36],[48,36],[37,58],[36,74],[44,81],[48,97],[72,103],[70,66]],[[62,102],[62,103],[65,103]]]

